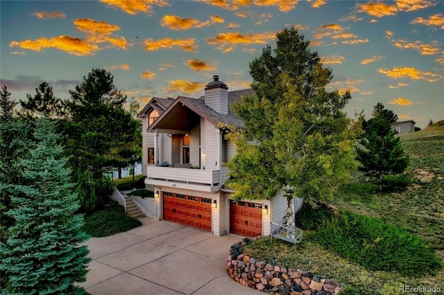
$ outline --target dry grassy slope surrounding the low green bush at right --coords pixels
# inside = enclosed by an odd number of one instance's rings
[[[377,184],[355,172],[339,190],[333,204],[362,215],[376,217],[418,235],[444,265],[444,121],[420,132],[400,134],[410,156],[407,175],[412,182],[404,190],[379,192]],[[268,262],[304,269],[336,278],[349,287],[345,294],[400,294],[399,286],[440,287],[444,294],[444,270],[418,278],[397,271],[370,271],[339,257],[314,242],[309,232],[302,243],[292,244],[268,238],[258,240],[245,251]],[[245,253],[245,252],[244,252]]]

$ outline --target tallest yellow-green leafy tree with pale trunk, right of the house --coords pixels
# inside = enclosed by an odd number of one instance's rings
[[[309,204],[330,199],[355,167],[352,140],[359,127],[343,111],[350,93],[326,91],[332,71],[294,28],[276,35],[250,62],[255,96],[232,107],[244,128],[228,134],[237,147],[226,163],[228,186],[241,199],[271,198],[284,190],[290,237],[295,197]]]

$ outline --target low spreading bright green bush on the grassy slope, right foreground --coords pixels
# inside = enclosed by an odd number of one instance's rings
[[[341,211],[341,215],[318,227],[314,239],[326,249],[370,270],[421,276],[442,268],[435,253],[418,236],[350,211]]]

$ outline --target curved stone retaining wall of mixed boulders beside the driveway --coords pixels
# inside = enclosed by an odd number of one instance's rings
[[[226,270],[228,276],[242,285],[269,294],[332,295],[343,289],[336,280],[300,269],[285,269],[241,253],[248,239],[237,242],[230,249]]]

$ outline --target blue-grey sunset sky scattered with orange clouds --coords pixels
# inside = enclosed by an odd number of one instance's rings
[[[399,120],[444,119],[444,1],[0,1],[0,84],[15,100],[41,82],[56,97],[92,69],[144,107],[153,96],[198,98],[212,75],[249,88],[249,63],[298,28],[350,90],[350,117],[382,102]]]

